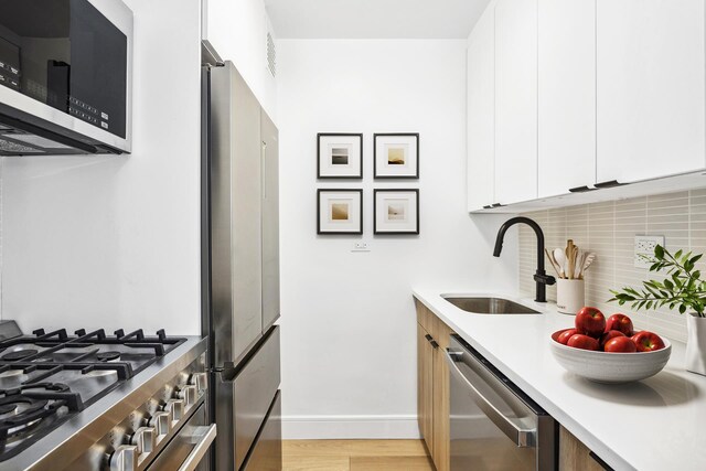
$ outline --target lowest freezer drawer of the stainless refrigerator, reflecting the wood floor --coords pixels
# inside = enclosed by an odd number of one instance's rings
[[[281,471],[282,469],[282,403],[277,393],[275,403],[263,426],[257,443],[250,452],[244,471]]]

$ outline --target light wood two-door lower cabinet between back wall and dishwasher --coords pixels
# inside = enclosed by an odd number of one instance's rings
[[[449,368],[451,329],[417,301],[417,414],[419,431],[437,471],[449,465]]]

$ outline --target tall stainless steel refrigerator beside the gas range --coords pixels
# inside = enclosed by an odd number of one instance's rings
[[[216,471],[281,469],[277,128],[233,63],[202,71],[203,333]]]

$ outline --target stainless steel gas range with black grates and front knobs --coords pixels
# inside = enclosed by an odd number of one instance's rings
[[[0,323],[0,469],[207,469],[205,351],[164,331]]]

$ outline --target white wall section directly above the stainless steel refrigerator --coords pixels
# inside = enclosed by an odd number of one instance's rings
[[[204,36],[225,61],[233,61],[265,111],[277,124],[277,84],[267,68],[267,31],[271,29],[264,0],[202,0]]]

